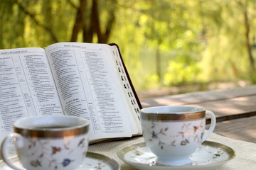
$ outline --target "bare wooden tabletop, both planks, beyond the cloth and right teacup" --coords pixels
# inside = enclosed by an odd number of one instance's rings
[[[143,108],[201,106],[215,113],[215,133],[235,140],[256,143],[256,85],[146,98],[142,99],[141,103]],[[209,120],[207,123],[210,123]]]

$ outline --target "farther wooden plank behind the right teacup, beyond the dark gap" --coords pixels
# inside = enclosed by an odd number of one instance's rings
[[[213,111],[217,121],[224,121],[256,115],[255,103],[256,86],[247,86],[245,88],[149,98],[142,101],[142,106],[201,106]]]

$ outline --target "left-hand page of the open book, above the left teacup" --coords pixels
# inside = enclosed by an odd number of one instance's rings
[[[63,114],[41,48],[0,50],[0,92],[0,142],[19,118]]]

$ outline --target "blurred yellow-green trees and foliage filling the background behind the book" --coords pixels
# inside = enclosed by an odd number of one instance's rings
[[[255,0],[1,0],[0,49],[115,42],[136,89],[256,83]]]

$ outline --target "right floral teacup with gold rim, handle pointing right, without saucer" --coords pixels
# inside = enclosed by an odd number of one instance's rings
[[[206,114],[211,124],[204,135]],[[195,106],[159,106],[140,111],[142,132],[158,164],[181,166],[191,164],[190,156],[215,128],[215,115]]]

